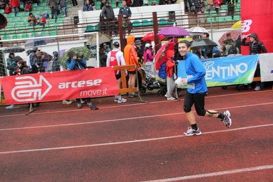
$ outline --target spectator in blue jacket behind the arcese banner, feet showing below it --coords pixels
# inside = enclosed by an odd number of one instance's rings
[[[69,51],[67,54],[69,57],[68,60],[66,61],[66,66],[67,66],[68,70],[81,70],[81,69],[85,68],[86,60],[83,60],[83,57],[78,59],[78,57],[74,51]],[[86,99],[86,103],[87,103],[88,107],[92,107],[90,97],[85,98],[85,99]],[[76,102],[77,102],[77,108],[80,109],[82,107],[81,100],[76,99]]]

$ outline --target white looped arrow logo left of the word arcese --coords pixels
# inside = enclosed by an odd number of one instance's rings
[[[21,80],[15,82],[18,85],[12,89],[12,98],[17,102],[36,101],[42,98],[51,90],[52,86],[42,75],[40,75],[39,83],[34,77],[16,77],[15,79]],[[42,93],[42,81],[47,84],[48,88]]]

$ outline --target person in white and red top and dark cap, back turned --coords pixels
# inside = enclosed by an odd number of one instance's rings
[[[106,66],[124,66],[126,65],[123,53],[118,48],[120,47],[120,44],[118,42],[114,42],[113,44],[114,49],[112,51],[109,51],[107,54],[107,62]],[[125,73],[127,75],[127,70],[125,70]],[[121,83],[121,73],[120,70],[115,70],[116,74],[116,81],[118,83],[118,89],[120,89],[120,83]],[[117,103],[125,103],[127,100],[123,99],[120,94],[115,95],[115,102]]]

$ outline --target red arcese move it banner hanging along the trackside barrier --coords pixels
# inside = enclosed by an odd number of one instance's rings
[[[118,94],[112,67],[3,77],[7,104],[61,101]]]

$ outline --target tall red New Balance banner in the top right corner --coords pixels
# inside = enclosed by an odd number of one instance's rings
[[[273,1],[241,0],[242,38],[256,33],[268,53],[273,52]],[[246,40],[248,42],[249,40]],[[242,46],[242,54],[249,55],[249,47]]]

